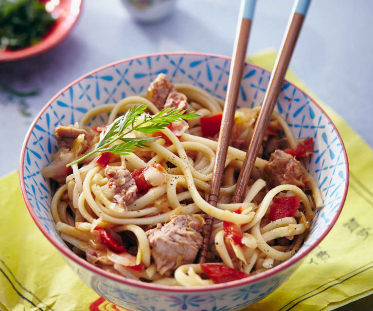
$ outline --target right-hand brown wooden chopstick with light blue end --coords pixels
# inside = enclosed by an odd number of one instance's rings
[[[264,96],[263,106],[260,110],[258,119],[256,120],[249,149],[233,192],[232,203],[240,203],[243,201],[243,195],[245,193],[246,185],[249,182],[250,173],[254,166],[256,155],[258,154],[260,145],[262,144],[268,122],[271,118],[276,100],[280,94],[285,73],[289,66],[290,58],[293,54],[310,2],[311,0],[297,0],[294,2],[280,51],[277,55],[274,69]]]

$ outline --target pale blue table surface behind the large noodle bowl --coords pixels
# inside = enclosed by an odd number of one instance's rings
[[[292,0],[260,0],[248,54],[278,49]],[[0,86],[39,90],[21,103],[0,89],[0,176],[18,168],[24,136],[37,112],[79,76],[113,61],[157,52],[193,51],[231,55],[238,0],[178,0],[157,24],[134,22],[120,0],[85,0],[70,36],[29,59],[0,63]],[[373,1],[314,0],[290,68],[373,146]],[[21,113],[26,107],[30,116]]]

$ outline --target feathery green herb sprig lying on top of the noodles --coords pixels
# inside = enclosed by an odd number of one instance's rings
[[[100,133],[100,140],[94,150],[66,166],[79,163],[96,152],[111,152],[120,155],[131,154],[136,147],[148,147],[147,143],[154,142],[160,138],[160,136],[135,138],[124,137],[128,133],[134,130],[142,133],[155,133],[162,128],[166,128],[171,122],[190,120],[199,116],[199,114],[194,113],[194,111],[186,112],[186,110],[166,108],[160,110],[160,112],[153,116],[144,113],[143,121],[136,124],[138,117],[146,110],[146,108],[147,105],[133,106],[124,115],[115,119],[105,131]],[[121,141],[120,144],[109,146],[118,140]]]

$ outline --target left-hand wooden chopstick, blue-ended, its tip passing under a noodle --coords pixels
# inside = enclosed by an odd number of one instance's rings
[[[249,42],[249,34],[251,29],[252,18],[254,15],[256,0],[241,0],[236,37],[231,60],[231,69],[229,73],[227,96],[225,98],[223,116],[219,131],[219,139],[215,154],[213,166],[213,176],[211,180],[211,188],[208,202],[216,206],[227,150],[231,138],[231,130],[233,125],[234,111],[238,92],[240,89],[242,73],[245,65],[246,50]],[[199,262],[203,263],[206,260],[207,250],[210,241],[210,235],[213,225],[213,217],[207,215],[205,217],[205,226],[203,229],[203,242],[199,253]]]

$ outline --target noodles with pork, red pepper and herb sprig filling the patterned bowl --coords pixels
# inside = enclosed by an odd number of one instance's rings
[[[79,124],[55,128],[59,149],[41,173],[60,183],[52,216],[72,251],[114,274],[182,286],[245,278],[293,256],[323,204],[302,165],[313,139],[295,139],[274,112],[245,200],[230,203],[260,107],[238,109],[214,207],[205,199],[222,105],[161,73],[147,96],[97,106]],[[102,112],[108,121],[89,127]],[[207,263],[197,264],[206,214],[213,231]]]

